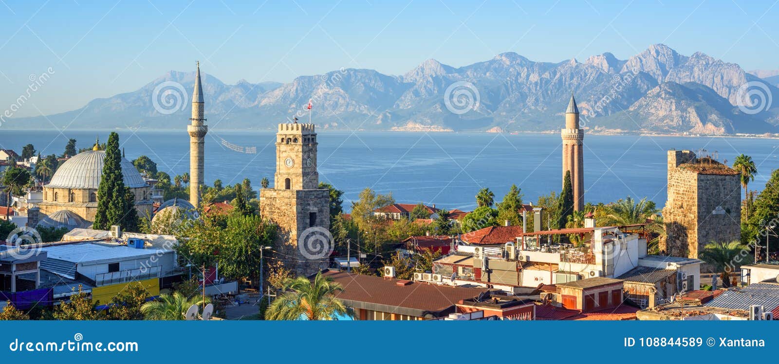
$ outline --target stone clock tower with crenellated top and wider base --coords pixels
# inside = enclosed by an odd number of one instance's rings
[[[279,226],[277,247],[298,274],[327,268],[333,248],[330,192],[319,189],[317,145],[314,124],[279,124],[273,188],[259,191],[260,215]]]

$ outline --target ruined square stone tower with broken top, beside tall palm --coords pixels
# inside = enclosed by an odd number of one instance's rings
[[[735,170],[689,150],[668,151],[665,240],[674,257],[697,258],[707,243],[741,238],[741,178]]]

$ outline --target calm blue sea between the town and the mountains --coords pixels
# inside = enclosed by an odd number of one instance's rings
[[[0,148],[21,152],[32,143],[42,154],[62,153],[68,138],[91,146],[109,131],[0,131]],[[118,131],[127,159],[150,156],[171,176],[189,171],[186,131]],[[256,154],[235,152],[221,144],[256,146]],[[206,137],[206,182],[235,184],[248,177],[254,186],[273,183],[275,138],[270,131],[210,131]],[[511,184],[525,200],[560,189],[559,135],[488,133],[319,132],[319,177],[357,198],[365,187],[392,192],[398,202],[424,201],[439,208],[474,208],[474,195],[489,187],[499,200]],[[683,138],[638,135],[587,135],[584,140],[585,199],[615,201],[647,196],[664,205],[666,151],[707,149],[730,163],[740,153],[752,156],[758,175],[750,189],[762,189],[779,168],[779,140],[759,138]],[[348,203],[344,204],[345,207]]]

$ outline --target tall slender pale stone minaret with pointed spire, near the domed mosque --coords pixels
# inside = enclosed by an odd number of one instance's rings
[[[200,62],[197,62],[195,90],[192,91],[192,124],[187,125],[189,132],[189,203],[200,205],[200,188],[203,186],[203,145],[208,127],[203,125],[203,86],[200,82]]]

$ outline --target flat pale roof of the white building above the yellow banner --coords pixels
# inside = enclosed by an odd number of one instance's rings
[[[104,243],[75,243],[41,247],[48,253],[48,258],[71,263],[90,263],[97,261],[121,261],[138,257],[147,257],[154,254],[171,253],[167,249],[136,249],[124,245],[108,246]]]

